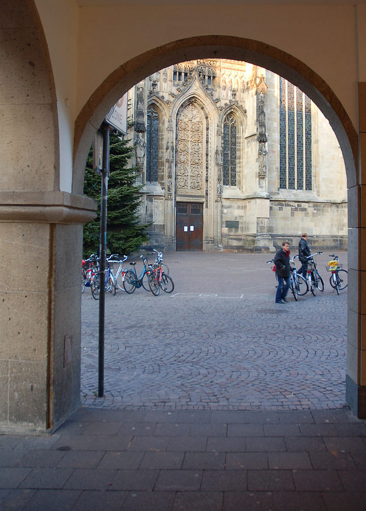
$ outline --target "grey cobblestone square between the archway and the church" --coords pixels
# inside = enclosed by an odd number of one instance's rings
[[[347,253],[340,253],[346,268]],[[347,292],[275,304],[273,255],[169,253],[172,294],[106,297],[105,397],[98,307],[82,296],[82,403],[123,409],[296,410],[345,406]],[[139,267],[141,265],[138,263]]]

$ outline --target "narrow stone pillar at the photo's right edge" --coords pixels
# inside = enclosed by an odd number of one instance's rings
[[[348,345],[346,400],[366,418],[366,82],[358,85],[360,184],[348,191]],[[365,327],[365,330],[364,328]]]

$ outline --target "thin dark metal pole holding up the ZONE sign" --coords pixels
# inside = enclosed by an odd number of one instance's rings
[[[104,396],[104,316],[105,316],[105,281],[106,281],[106,247],[107,247],[107,195],[109,178],[109,126],[103,125],[103,169],[101,179],[101,228],[99,242],[100,257],[100,295],[99,295],[99,371],[98,397]]]

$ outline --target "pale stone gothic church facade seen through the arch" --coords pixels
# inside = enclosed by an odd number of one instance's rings
[[[347,246],[347,183],[328,121],[283,78],[195,60],[129,91],[141,221],[164,250]]]

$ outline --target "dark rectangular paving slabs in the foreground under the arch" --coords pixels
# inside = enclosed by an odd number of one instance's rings
[[[37,443],[0,441],[0,459],[22,453],[0,472],[0,509],[364,511],[366,421],[348,409],[317,413],[81,408]],[[303,436],[309,424],[343,431]]]

